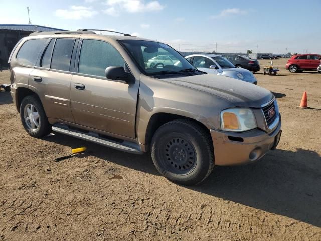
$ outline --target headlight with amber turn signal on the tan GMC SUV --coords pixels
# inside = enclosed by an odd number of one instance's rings
[[[221,129],[244,132],[256,128],[253,111],[249,108],[231,108],[221,112]]]

